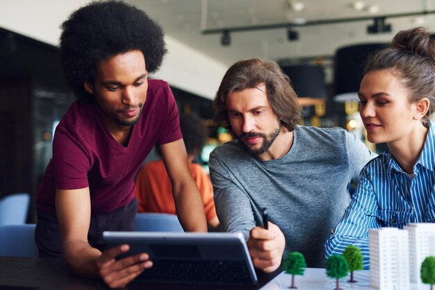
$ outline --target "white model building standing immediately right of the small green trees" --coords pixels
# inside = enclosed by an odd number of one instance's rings
[[[370,287],[381,290],[408,290],[408,231],[379,228],[369,231]]]

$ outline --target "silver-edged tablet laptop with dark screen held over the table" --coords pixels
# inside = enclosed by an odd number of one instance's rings
[[[258,280],[243,234],[103,232],[109,247],[129,244],[126,255],[148,253],[153,266],[136,281],[256,285]]]

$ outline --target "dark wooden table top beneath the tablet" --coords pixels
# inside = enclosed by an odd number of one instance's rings
[[[281,273],[257,273],[257,286],[170,284],[131,282],[125,289],[261,289]],[[82,278],[69,271],[63,259],[37,259],[24,257],[0,257],[0,290],[97,290],[109,289],[102,280]]]

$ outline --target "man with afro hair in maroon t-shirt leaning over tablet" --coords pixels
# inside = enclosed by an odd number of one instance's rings
[[[147,253],[115,259],[104,230],[133,230],[134,177],[154,144],[161,148],[184,230],[206,231],[190,176],[177,104],[163,80],[149,80],[166,52],[163,31],[122,1],[79,8],[62,24],[60,56],[77,96],[59,125],[38,189],[40,257],[64,257],[74,273],[124,287],[152,266]]]

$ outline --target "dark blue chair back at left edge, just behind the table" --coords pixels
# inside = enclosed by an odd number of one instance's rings
[[[0,256],[38,257],[36,225],[0,225]]]

